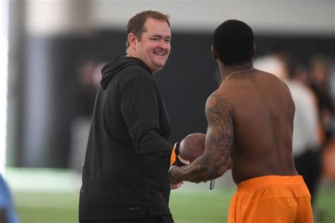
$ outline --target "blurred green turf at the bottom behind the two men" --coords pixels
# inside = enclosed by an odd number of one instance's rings
[[[226,222],[232,194],[233,189],[172,191],[170,208],[176,223]],[[78,222],[78,193],[16,192],[13,197],[23,223]],[[335,222],[335,188],[319,191],[316,210],[319,223]]]

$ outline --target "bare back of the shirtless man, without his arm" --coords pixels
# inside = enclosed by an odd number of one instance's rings
[[[225,80],[218,92],[232,106],[230,158],[235,183],[257,176],[297,174],[292,156],[294,103],[283,81],[254,69]]]

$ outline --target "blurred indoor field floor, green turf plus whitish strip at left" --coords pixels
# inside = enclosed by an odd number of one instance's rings
[[[9,169],[8,183],[23,223],[78,222],[78,186],[74,174],[54,169]],[[218,182],[213,191],[208,183],[185,183],[172,191],[170,208],[176,223],[226,222],[231,183]],[[316,203],[317,222],[335,222],[334,182],[322,183]]]

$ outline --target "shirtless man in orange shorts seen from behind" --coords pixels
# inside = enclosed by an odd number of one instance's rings
[[[227,20],[213,34],[212,54],[223,77],[206,102],[204,155],[170,179],[201,182],[232,168],[237,191],[228,222],[312,222],[310,193],[292,156],[295,105],[283,81],[252,66],[252,29]]]

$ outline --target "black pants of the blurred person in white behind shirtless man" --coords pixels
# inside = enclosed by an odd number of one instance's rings
[[[298,157],[294,157],[295,169],[304,179],[310,195],[312,204],[315,202],[317,187],[322,174],[322,150],[307,150]]]

